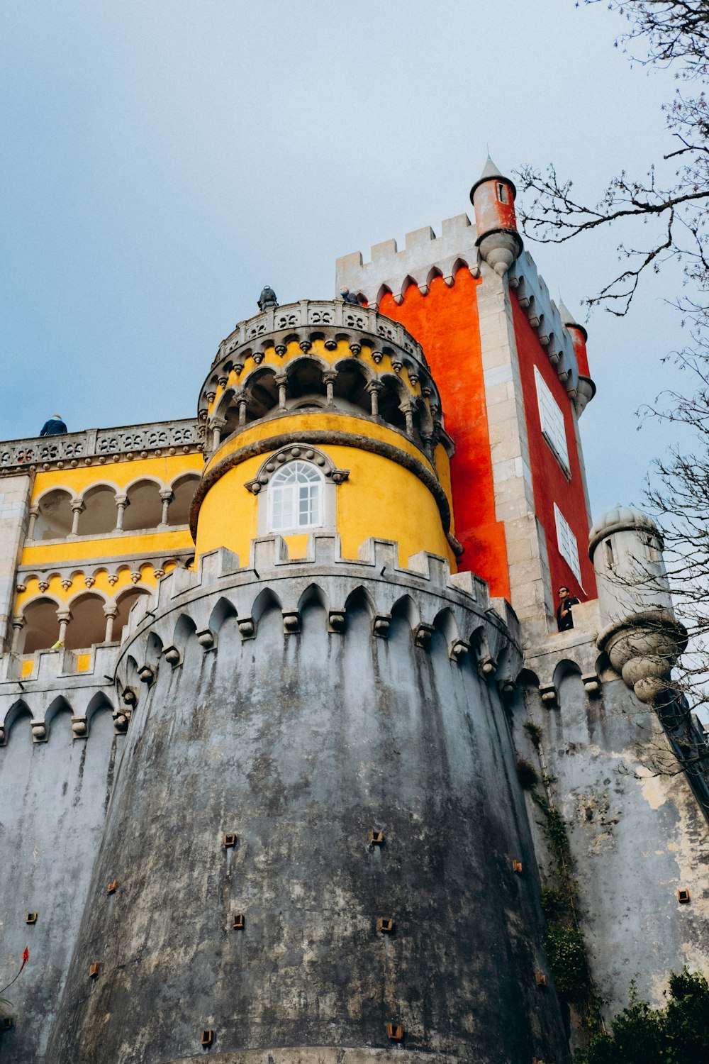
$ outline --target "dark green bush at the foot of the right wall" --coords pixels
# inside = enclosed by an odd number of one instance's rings
[[[630,1003],[579,1050],[575,1064],[689,1064],[709,1053],[709,983],[683,968],[670,976],[664,1009],[651,1009],[631,984]]]

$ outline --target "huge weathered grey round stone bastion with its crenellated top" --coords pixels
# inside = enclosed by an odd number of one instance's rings
[[[118,676],[137,704],[55,1064],[188,1059],[203,1029],[221,1060],[371,1055],[390,1021],[406,1058],[568,1059],[535,978],[538,881],[494,680],[519,651],[479,582],[393,559],[280,564],[276,541],[230,571],[221,551],[132,617]]]

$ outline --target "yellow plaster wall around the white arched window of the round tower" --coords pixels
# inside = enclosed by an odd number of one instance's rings
[[[275,418],[230,437],[213,455],[207,472],[226,455],[254,439],[282,432],[297,433],[299,429],[366,433],[391,443],[433,471],[421,451],[399,433],[359,418],[318,413]],[[436,500],[413,472],[391,459],[357,447],[340,444],[318,444],[317,447],[337,467],[350,470],[349,479],[336,487],[336,527],[343,558],[356,559],[362,543],[375,536],[398,542],[399,564],[403,567],[408,565],[412,554],[427,550],[448,558],[455,571],[455,556],[445,538]],[[445,466],[443,486],[446,486],[448,455],[442,447],[439,451],[436,459]],[[254,496],[243,485],[255,479],[268,453],[271,452],[246,459],[224,472],[208,489],[199,512],[198,554],[226,547],[239,556],[241,565],[249,564],[251,541],[257,534],[258,505],[266,504],[266,493]],[[284,536],[291,558],[305,556],[307,538],[306,534]]]

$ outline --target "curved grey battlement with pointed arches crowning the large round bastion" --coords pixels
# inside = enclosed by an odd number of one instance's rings
[[[130,684],[130,660],[140,666],[138,659],[145,656],[148,678],[163,653],[170,664],[179,664],[190,633],[197,633],[205,651],[218,646],[219,630],[230,616],[236,618],[241,639],[255,637],[259,616],[273,602],[283,613],[284,633],[296,634],[301,612],[313,598],[324,608],[333,633],[345,631],[350,604],[364,599],[374,636],[386,638],[392,617],[402,615],[417,646],[427,649],[439,628],[453,660],[472,653],[487,679],[505,660],[497,679],[516,675],[519,624],[504,599],[490,600],[485,581],[471,572],[452,575],[448,560],[436,554],[415,554],[406,569],[398,558],[396,543],[370,538],[358,559],[343,559],[339,537],[325,533],[310,537],[306,559],[289,559],[278,535],[255,539],[248,566],[224,548],[204,554],[196,572],[173,570],[159,581],[151,601],[134,605],[118,665],[120,683]],[[138,667],[140,679],[146,678],[142,671]]]

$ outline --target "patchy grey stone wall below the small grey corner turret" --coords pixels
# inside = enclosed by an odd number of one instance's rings
[[[590,620],[595,604],[575,608],[577,621]],[[707,819],[656,712],[597,660],[594,631],[552,636],[537,651],[527,664],[541,684],[523,674],[516,742],[533,761],[522,724],[542,729],[541,768],[567,821],[604,1012],[625,1008],[630,980],[661,1004],[671,970],[709,972]],[[539,819],[533,803],[529,811]],[[690,892],[687,904],[680,888]]]

